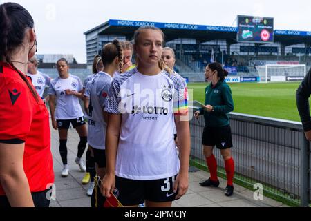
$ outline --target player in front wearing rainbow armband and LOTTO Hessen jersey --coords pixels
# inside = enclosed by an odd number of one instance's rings
[[[115,191],[124,206],[171,206],[188,189],[187,85],[164,70],[162,30],[144,26],[134,39],[138,66],[113,79],[106,103],[102,193],[110,197]],[[172,136],[175,125],[179,158]]]

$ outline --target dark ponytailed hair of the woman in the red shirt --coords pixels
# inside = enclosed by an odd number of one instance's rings
[[[28,10],[17,3],[3,3],[0,5],[0,61],[6,61],[19,73],[21,79],[26,82],[30,92],[39,102],[37,92],[23,75],[12,64],[10,54],[23,44],[23,39],[28,28],[34,28],[34,21]]]

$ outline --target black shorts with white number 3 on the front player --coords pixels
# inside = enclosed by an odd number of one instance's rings
[[[115,176],[115,195],[124,206],[151,202],[171,202],[178,193],[173,192],[176,176],[161,180],[129,180]]]

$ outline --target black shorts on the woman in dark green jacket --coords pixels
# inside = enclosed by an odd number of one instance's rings
[[[205,126],[202,135],[202,144],[204,146],[215,146],[224,150],[232,148],[232,133],[230,125],[221,127]]]

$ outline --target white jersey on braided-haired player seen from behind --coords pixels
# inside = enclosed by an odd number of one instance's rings
[[[106,138],[106,122],[104,121],[104,106],[113,78],[100,72],[87,84],[90,95],[88,106],[88,144],[93,148],[104,150]]]

